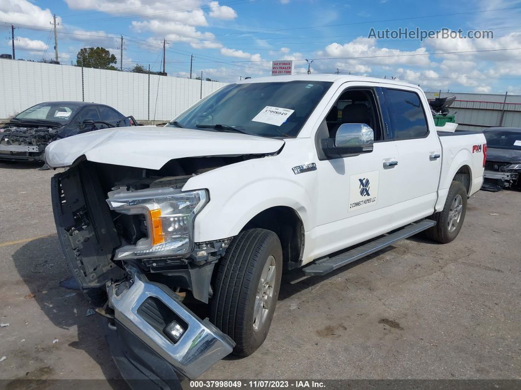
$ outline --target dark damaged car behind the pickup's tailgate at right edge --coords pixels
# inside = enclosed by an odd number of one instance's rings
[[[483,134],[487,139],[483,190],[521,190],[521,128],[495,127]]]

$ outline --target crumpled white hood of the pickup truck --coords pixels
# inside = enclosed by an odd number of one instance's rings
[[[45,148],[53,168],[81,156],[94,162],[160,169],[171,159],[275,153],[284,141],[240,133],[139,126],[103,129],[54,141]]]

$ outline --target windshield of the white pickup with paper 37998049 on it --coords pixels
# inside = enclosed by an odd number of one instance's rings
[[[230,84],[183,112],[169,126],[295,137],[331,84],[322,81]],[[215,125],[219,126],[214,128]]]

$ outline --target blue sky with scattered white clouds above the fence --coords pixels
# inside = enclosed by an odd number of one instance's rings
[[[294,60],[305,72],[396,77],[425,90],[521,94],[521,0],[2,0],[2,53],[11,53],[16,27],[17,58],[54,58],[49,22],[59,22],[62,64],[81,47],[103,46],[123,68],[135,64],[233,82],[267,76],[271,60]],[[494,39],[369,39],[376,30],[492,30]],[[456,52],[456,53],[453,53]],[[465,53],[461,53],[465,52]]]

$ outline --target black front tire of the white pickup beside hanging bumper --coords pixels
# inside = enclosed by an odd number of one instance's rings
[[[261,326],[255,330],[257,289],[261,286],[259,282],[268,261],[275,264],[274,270],[268,266],[267,271],[272,271],[272,298],[267,309],[261,303],[260,311],[265,313],[264,319],[257,321],[257,326]],[[281,275],[282,247],[274,232],[249,229],[233,239],[217,270],[210,321],[236,343],[233,349],[235,355],[249,356],[264,342],[275,312]],[[264,290],[260,296],[264,296]]]

